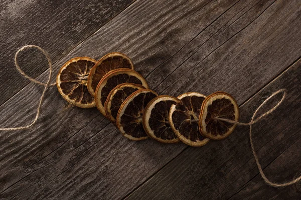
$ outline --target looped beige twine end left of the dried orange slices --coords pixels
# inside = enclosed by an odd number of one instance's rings
[[[21,51],[23,51],[23,50],[25,50],[25,49],[27,49],[27,48],[37,48],[37,49],[39,49],[39,50],[45,55],[45,57],[47,58],[48,65],[49,65],[49,76],[48,76],[48,80],[47,80],[46,83],[40,82],[40,81],[36,80],[35,78],[30,77],[29,75],[27,75],[27,74],[21,69],[21,67],[20,67],[20,65],[19,65],[19,63],[18,63],[18,54],[19,54]],[[35,119],[34,119],[30,124],[25,125],[25,126],[0,128],[0,130],[21,130],[21,129],[27,129],[27,128],[33,126],[33,125],[37,122],[37,120],[38,120],[38,118],[39,118],[39,116],[40,116],[40,113],[41,113],[41,106],[42,106],[42,103],[43,103],[43,100],[44,100],[44,96],[45,96],[45,93],[46,93],[47,89],[48,89],[49,87],[51,87],[51,86],[53,86],[53,85],[56,84],[56,83],[51,83],[51,77],[52,77],[52,63],[51,63],[51,59],[50,59],[48,53],[47,53],[43,48],[41,48],[41,47],[39,47],[39,46],[36,46],[36,45],[25,45],[25,46],[23,46],[22,48],[20,48],[20,49],[16,52],[16,54],[15,54],[15,59],[14,59],[14,60],[15,60],[16,68],[18,69],[18,71],[19,71],[24,77],[26,77],[27,79],[29,79],[29,80],[32,81],[32,82],[35,82],[35,83],[40,84],[40,85],[44,85],[45,87],[44,87],[44,90],[43,90],[43,92],[42,92],[42,95],[41,95],[41,98],[40,98],[40,101],[39,101],[39,105],[38,105],[38,108],[37,108],[37,114],[36,114],[36,117],[35,117]]]

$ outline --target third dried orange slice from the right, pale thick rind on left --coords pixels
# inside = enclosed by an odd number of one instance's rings
[[[168,120],[171,106],[177,103],[180,103],[178,98],[168,95],[160,95],[149,101],[142,117],[143,127],[148,136],[163,143],[180,141]]]

